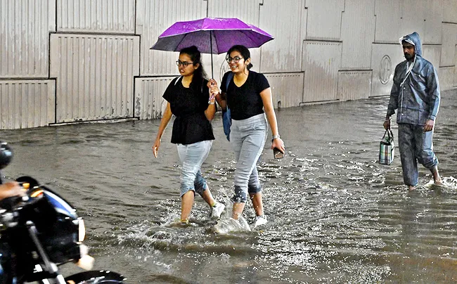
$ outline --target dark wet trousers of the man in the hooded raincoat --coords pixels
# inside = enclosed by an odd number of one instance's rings
[[[399,150],[403,180],[407,186],[418,184],[418,162],[433,169],[438,159],[433,152],[433,131],[423,131],[422,125],[398,124]]]

